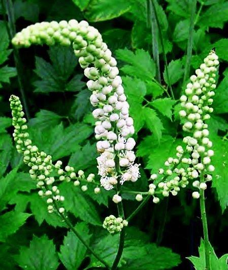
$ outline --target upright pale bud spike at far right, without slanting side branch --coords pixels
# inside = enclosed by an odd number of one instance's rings
[[[191,82],[187,84],[185,95],[181,96],[180,116],[184,118],[183,130],[190,132],[192,136],[187,136],[183,141],[187,144],[187,150],[191,154],[191,174],[189,177],[199,181],[192,183],[193,187],[205,190],[206,181],[212,179],[211,172],[214,166],[211,165],[211,157],[214,151],[211,149],[212,141],[209,139],[208,125],[205,123],[213,112],[214,89],[216,88],[216,72],[219,65],[218,56],[214,51],[204,59],[200,69],[196,70],[196,75],[190,77]],[[199,182],[199,183],[198,183]],[[193,192],[192,197],[198,198],[199,192]]]

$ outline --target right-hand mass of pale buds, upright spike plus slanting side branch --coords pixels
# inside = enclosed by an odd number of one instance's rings
[[[211,164],[211,157],[214,152],[206,121],[213,112],[211,105],[215,95],[218,65],[218,56],[211,51],[200,69],[196,70],[196,75],[190,77],[191,82],[187,84],[185,95],[180,98],[182,110],[179,114],[183,131],[188,136],[183,138],[184,148],[182,145],[177,146],[176,157],[165,161],[166,168],[160,168],[151,175],[150,179],[154,183],[149,185],[148,194],[153,196],[154,203],[159,202],[156,196],[160,194],[164,197],[170,193],[176,196],[180,187],[185,188],[189,181],[194,188],[205,190],[206,182],[212,179],[214,166]],[[194,191],[192,197],[198,199],[200,193]]]

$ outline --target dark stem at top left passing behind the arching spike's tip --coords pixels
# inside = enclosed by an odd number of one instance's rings
[[[7,16],[8,16],[8,27],[7,27],[7,29],[8,29],[9,38],[10,38],[10,40],[12,40],[12,38],[16,34],[14,9],[13,9],[12,0],[4,0],[4,1],[2,0],[2,5],[6,9],[6,13],[7,13]],[[23,67],[22,67],[22,64],[21,64],[18,49],[13,47],[13,52],[14,52],[14,61],[15,61],[15,66],[16,66],[16,70],[17,70],[17,79],[18,79],[18,83],[19,83],[21,99],[22,99],[24,110],[25,110],[25,114],[27,116],[27,119],[29,119],[30,116],[29,116],[28,106],[27,106],[25,93],[24,93],[23,82],[22,82]]]

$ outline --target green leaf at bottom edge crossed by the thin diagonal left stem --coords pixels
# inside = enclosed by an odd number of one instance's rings
[[[75,229],[83,235],[83,239],[88,243],[91,236],[89,235],[88,225],[81,222],[75,226]],[[72,231],[69,231],[67,236],[64,237],[63,245],[60,246],[60,253],[58,253],[61,262],[68,270],[75,270],[83,261],[85,253],[86,247]]]

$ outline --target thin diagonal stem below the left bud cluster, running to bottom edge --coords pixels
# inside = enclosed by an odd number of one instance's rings
[[[53,203],[55,206],[56,211],[58,212],[58,207],[56,205],[56,202]],[[74,228],[74,226],[71,224],[68,218],[64,216],[63,213],[59,213],[59,216],[64,220],[64,222],[68,225],[68,227],[73,231],[73,233],[79,238],[79,240],[82,242],[82,244],[91,252],[91,254],[99,260],[101,263],[103,263],[107,269],[110,269],[110,266],[106,261],[104,261],[99,255],[97,255],[92,248],[89,247],[89,245],[86,243],[86,241],[83,239],[83,237],[80,235],[80,233]]]

